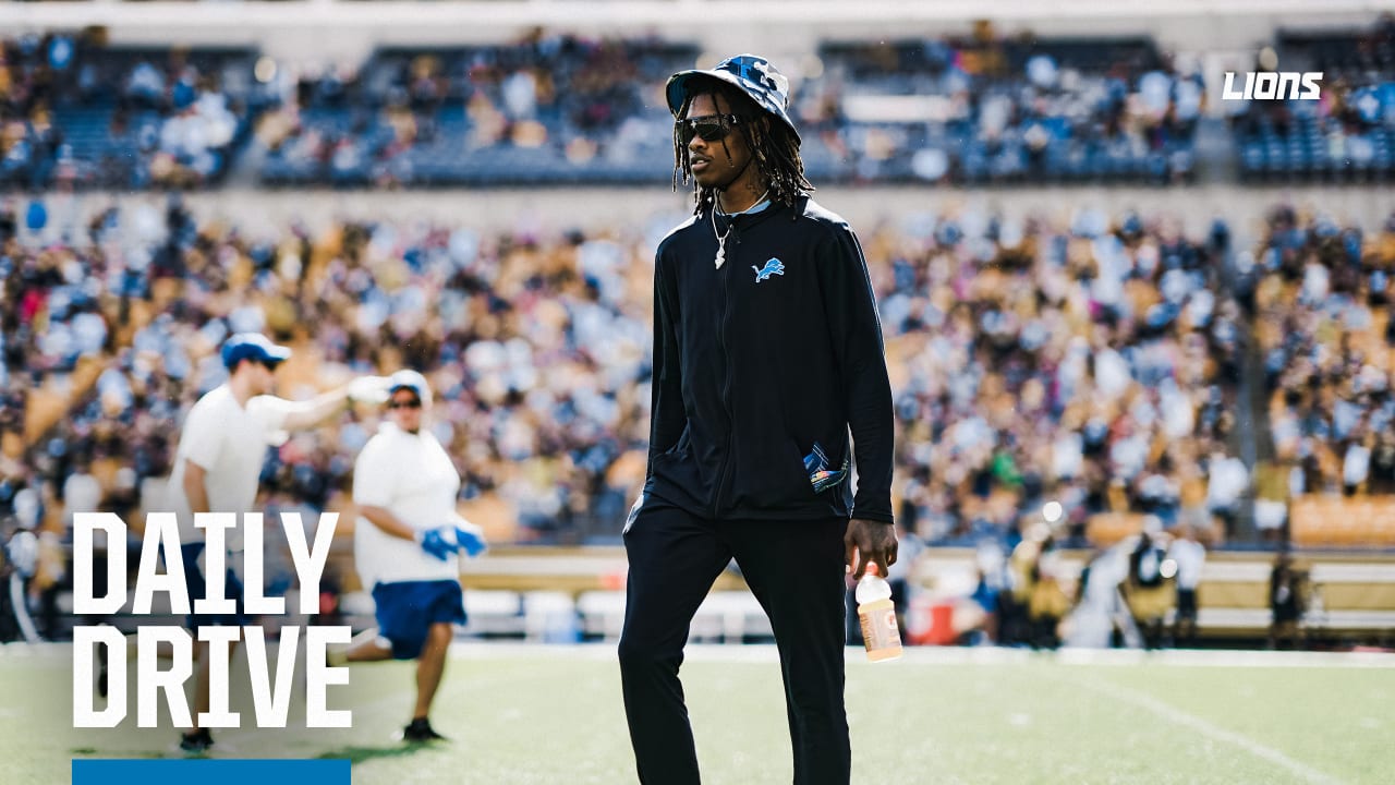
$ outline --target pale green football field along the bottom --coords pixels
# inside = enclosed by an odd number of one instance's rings
[[[61,647],[0,647],[0,781],[68,781],[74,757],[179,757],[174,732],[71,729]],[[848,650],[857,784],[1395,782],[1395,656]],[[347,757],[356,785],[633,782],[614,650],[459,647],[432,721],[393,739],[410,665],[354,666],[346,731],[226,729],[213,757]],[[246,665],[234,690],[246,693]],[[704,782],[790,782],[774,651],[693,647],[684,666]],[[252,722],[250,700],[234,710]],[[303,724],[292,710],[292,725]],[[300,712],[300,714],[297,714]],[[162,712],[163,714],[163,712]],[[195,784],[197,785],[197,784]]]

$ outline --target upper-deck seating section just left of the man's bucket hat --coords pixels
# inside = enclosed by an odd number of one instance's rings
[[[544,36],[506,46],[381,49],[349,85],[301,89],[269,140],[268,184],[635,183],[671,176],[656,105],[689,45]]]

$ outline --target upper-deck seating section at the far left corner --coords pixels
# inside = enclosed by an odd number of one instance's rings
[[[265,94],[248,49],[116,47],[96,31],[0,42],[0,184],[206,187],[226,176]]]

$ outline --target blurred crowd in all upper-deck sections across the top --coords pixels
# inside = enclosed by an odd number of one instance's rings
[[[205,187],[665,182],[665,77],[691,43],[536,31],[494,46],[378,49],[300,71],[254,49],[0,43],[0,184]],[[1256,70],[1327,75],[1318,102],[1225,105],[1244,179],[1395,173],[1395,21],[1283,34]],[[1147,38],[824,43],[788,63],[815,182],[1148,182],[1197,176],[1218,101]]]

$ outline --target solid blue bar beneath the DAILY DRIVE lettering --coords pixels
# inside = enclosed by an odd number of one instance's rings
[[[73,785],[350,785],[347,760],[74,760]]]

